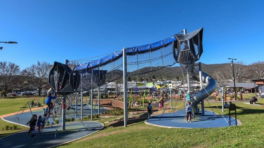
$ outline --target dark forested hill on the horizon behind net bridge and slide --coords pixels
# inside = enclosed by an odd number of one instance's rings
[[[222,63],[222,64],[203,64],[202,63],[202,71],[213,76],[215,79],[217,78],[217,72],[224,71],[227,66],[230,66],[230,63]],[[178,79],[181,77],[181,67],[175,66],[175,67],[166,67],[162,68],[158,71],[153,71],[145,74],[139,74],[130,76],[131,80],[151,80],[153,78],[155,79],[164,79],[164,78],[172,78],[172,79]]]

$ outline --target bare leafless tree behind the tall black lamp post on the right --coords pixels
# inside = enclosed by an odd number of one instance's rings
[[[248,78],[248,68],[243,61],[234,62],[235,82],[242,82]],[[234,83],[233,66],[227,65],[224,70],[219,71],[220,83]]]

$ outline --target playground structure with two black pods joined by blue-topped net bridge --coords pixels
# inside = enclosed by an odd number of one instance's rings
[[[183,34],[180,34],[182,32]],[[50,66],[48,82],[52,91],[63,95],[62,129],[65,130],[64,120],[67,95],[80,92],[82,107],[83,91],[91,91],[89,102],[93,102],[93,88],[99,88],[122,77],[124,82],[124,126],[126,127],[128,112],[126,76],[160,70],[175,63],[179,63],[181,66],[184,77],[183,91],[190,91],[193,96],[191,101],[195,104],[195,114],[197,113],[197,104],[200,102],[202,104],[202,113],[204,114],[203,100],[213,93],[216,88],[216,82],[211,76],[201,71],[201,66],[199,66],[199,69],[195,67],[195,62],[200,59],[203,52],[202,34],[203,28],[190,33],[186,33],[186,29],[184,29],[165,40],[143,46],[123,48],[120,51],[107,54],[103,58],[89,61],[88,63],[69,65],[69,62],[71,62],[69,60],[65,60],[65,64],[54,62],[54,65]],[[200,80],[201,90],[197,93],[194,92],[194,87],[191,83],[193,79]],[[207,84],[206,87],[203,88],[202,82]],[[99,94],[98,89],[98,98]],[[98,110],[100,110],[100,101],[98,102]],[[91,111],[91,118],[92,114],[93,112]]]

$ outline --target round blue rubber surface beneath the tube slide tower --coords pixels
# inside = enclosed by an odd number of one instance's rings
[[[184,109],[180,109],[172,113],[164,113],[151,116],[146,120],[149,124],[168,127],[180,127],[180,128],[210,128],[210,127],[225,127],[229,126],[229,116],[224,116],[228,123],[225,121],[222,115],[213,114],[213,112],[205,110],[205,115],[195,115],[192,118],[192,122],[186,122],[184,117]],[[238,122],[237,122],[238,123]],[[231,117],[231,126],[235,125],[235,119]]]

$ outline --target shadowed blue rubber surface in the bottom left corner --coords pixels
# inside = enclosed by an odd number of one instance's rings
[[[57,132],[57,125],[52,126],[51,129],[50,127],[44,127],[40,135],[38,134],[38,130],[36,128],[35,140],[34,138],[31,138],[31,135],[27,134],[28,131],[18,132],[0,138],[0,147],[51,147],[92,134],[104,127],[103,124],[94,121],[83,121],[83,124],[80,121],[66,123],[65,131],[61,130],[60,124]]]

